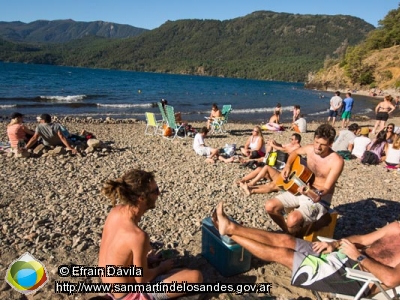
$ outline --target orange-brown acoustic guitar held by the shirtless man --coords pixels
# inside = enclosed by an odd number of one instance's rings
[[[293,195],[298,195],[297,189],[301,186],[307,186],[313,176],[314,174],[310,169],[301,163],[301,157],[297,156],[292,164],[289,176],[286,179],[277,176],[275,184]]]

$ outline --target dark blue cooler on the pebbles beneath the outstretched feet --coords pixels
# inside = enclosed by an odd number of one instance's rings
[[[225,277],[250,270],[251,254],[228,236],[222,236],[211,218],[205,218],[201,226],[201,255]]]

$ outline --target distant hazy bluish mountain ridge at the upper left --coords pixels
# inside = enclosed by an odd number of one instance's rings
[[[65,43],[85,36],[126,38],[137,36],[147,29],[110,22],[75,22],[73,20],[31,23],[0,22],[0,36],[13,42]]]

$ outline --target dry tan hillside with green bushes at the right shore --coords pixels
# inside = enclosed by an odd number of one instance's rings
[[[318,89],[362,89],[379,87],[400,90],[400,4],[379,21],[358,45],[344,56],[325,60],[324,68],[310,74],[307,86]]]

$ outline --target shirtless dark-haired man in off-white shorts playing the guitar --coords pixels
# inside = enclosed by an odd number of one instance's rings
[[[297,235],[302,227],[320,219],[328,212],[335,183],[343,170],[343,158],[331,147],[336,131],[329,124],[320,125],[314,133],[314,143],[293,151],[281,172],[283,179],[290,175],[292,164],[298,155],[307,156],[307,167],[314,174],[312,185],[298,188],[299,196],[290,192],[267,200],[265,209],[285,233]],[[294,209],[285,222],[284,209]]]

